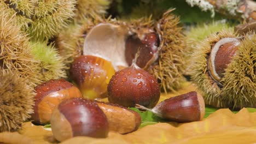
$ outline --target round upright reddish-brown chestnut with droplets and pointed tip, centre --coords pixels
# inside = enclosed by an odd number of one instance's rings
[[[160,88],[155,77],[135,64],[115,73],[108,85],[110,103],[154,107],[159,98]]]

